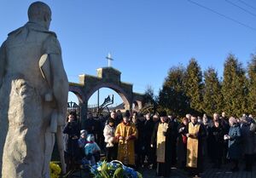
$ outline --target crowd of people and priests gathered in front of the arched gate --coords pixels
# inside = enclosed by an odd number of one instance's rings
[[[256,123],[252,115],[227,118],[214,113],[212,118],[187,114],[178,119],[165,111],[157,114],[111,112],[109,117],[88,114],[85,128],[79,129],[76,113],[71,112],[63,129],[67,169],[73,164],[96,164],[101,152],[106,160],[119,160],[134,169],[156,169],[157,176],[168,177],[171,168],[200,175],[203,160],[219,169],[232,164],[238,171],[243,158],[246,171],[255,159]]]

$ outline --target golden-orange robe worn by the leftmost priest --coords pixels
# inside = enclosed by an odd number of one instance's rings
[[[115,130],[115,136],[122,136],[123,141],[119,140],[118,160],[123,164],[135,165],[134,140],[125,141],[128,136],[137,139],[137,129],[133,123],[119,123]]]

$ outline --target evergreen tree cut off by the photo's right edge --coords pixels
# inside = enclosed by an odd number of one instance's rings
[[[247,113],[256,116],[256,55],[252,55],[252,60],[248,63],[248,96]]]

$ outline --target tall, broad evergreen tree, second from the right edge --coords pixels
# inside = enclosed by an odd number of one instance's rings
[[[224,63],[224,112],[228,116],[241,117],[247,111],[247,78],[245,71],[234,55]]]

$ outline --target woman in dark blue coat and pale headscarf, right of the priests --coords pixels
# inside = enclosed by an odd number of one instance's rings
[[[230,131],[229,135],[224,135],[224,140],[229,141],[228,156],[231,162],[234,164],[231,169],[232,172],[239,170],[238,161],[241,158],[241,129],[239,123],[237,123],[236,118],[231,117],[229,119]]]

